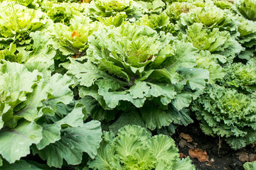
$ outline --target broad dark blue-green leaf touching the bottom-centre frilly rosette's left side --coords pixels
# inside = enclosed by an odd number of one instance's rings
[[[60,140],[36,151],[41,159],[47,160],[48,166],[60,168],[63,159],[68,164],[80,164],[83,152],[87,152],[91,158],[96,156],[102,140],[100,122],[92,120],[81,127],[66,128],[61,132]]]

